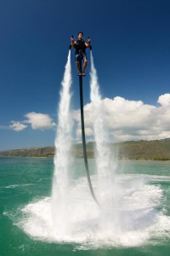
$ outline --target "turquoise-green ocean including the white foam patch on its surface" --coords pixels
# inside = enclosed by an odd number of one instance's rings
[[[116,213],[107,205],[103,215],[88,191],[83,160],[72,166],[61,223],[71,228],[59,234],[51,214],[54,160],[0,157],[1,256],[169,255],[170,161],[117,160]],[[94,160],[89,169],[97,191]]]

